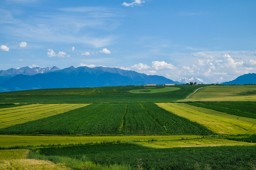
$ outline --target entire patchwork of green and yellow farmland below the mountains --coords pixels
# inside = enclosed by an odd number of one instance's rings
[[[255,169],[255,90],[179,85],[2,92],[0,170]]]

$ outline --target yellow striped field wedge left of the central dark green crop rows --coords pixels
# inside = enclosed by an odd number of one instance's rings
[[[38,120],[87,106],[89,104],[31,104],[0,109],[0,129]]]

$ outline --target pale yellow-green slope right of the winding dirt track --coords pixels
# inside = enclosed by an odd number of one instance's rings
[[[241,86],[207,86],[199,89],[188,99],[178,102],[189,101],[256,101],[256,95],[241,95],[241,92],[255,91],[256,85]]]

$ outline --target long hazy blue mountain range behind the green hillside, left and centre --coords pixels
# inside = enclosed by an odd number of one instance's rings
[[[145,84],[182,84],[158,75],[146,75],[131,70],[108,67],[73,66],[42,74],[18,74],[0,84],[8,91],[52,89],[66,87],[100,87]]]

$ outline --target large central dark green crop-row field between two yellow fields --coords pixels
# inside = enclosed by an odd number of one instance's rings
[[[40,107],[36,111],[44,112],[47,106],[50,105],[35,106]],[[22,109],[32,112],[29,108],[34,110],[33,107],[17,108],[14,114]],[[14,108],[9,110],[15,111]],[[214,133],[154,103],[98,103],[0,129],[0,134],[210,135]]]

